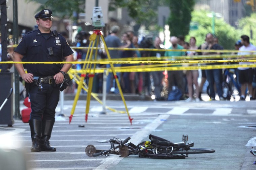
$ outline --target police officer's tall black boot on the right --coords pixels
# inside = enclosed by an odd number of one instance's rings
[[[53,130],[55,120],[43,120],[42,122],[42,137],[41,137],[41,149],[42,151],[55,152],[56,148],[50,145],[49,139]]]

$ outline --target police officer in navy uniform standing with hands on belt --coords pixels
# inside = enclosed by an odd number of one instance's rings
[[[52,11],[44,9],[35,15],[38,29],[22,37],[14,52],[13,61],[56,62],[73,61],[73,51],[61,34],[51,31]],[[26,82],[31,101],[30,131],[31,152],[56,151],[49,143],[55,122],[55,108],[59,101],[60,85],[72,64],[27,64],[25,73],[22,64],[15,64]]]

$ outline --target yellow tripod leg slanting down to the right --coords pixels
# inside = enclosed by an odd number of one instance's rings
[[[106,50],[106,53],[107,53],[107,58],[108,58],[109,60],[111,60],[111,57],[110,57],[109,51],[108,51],[108,49],[107,49],[106,42],[105,42],[104,37],[103,37],[102,35],[101,35],[101,39],[102,39],[102,41],[103,41],[103,43],[104,43],[104,46],[105,46],[105,50]],[[129,118],[129,120],[130,120],[130,123],[132,124],[132,120],[133,120],[133,119],[131,118],[131,116],[130,116],[130,114],[129,114],[129,111],[128,111],[128,108],[127,108],[127,105],[126,105],[126,102],[125,102],[125,99],[124,99],[124,95],[123,95],[123,92],[122,92],[121,86],[120,86],[120,84],[119,84],[119,81],[118,81],[118,77],[117,77],[116,71],[115,71],[115,69],[114,69],[114,65],[113,65],[113,64],[110,64],[110,67],[111,67],[111,70],[112,70],[112,72],[113,72],[114,78],[115,78],[115,80],[116,80],[117,87],[118,87],[118,89],[119,89],[119,92],[120,92],[121,98],[122,98],[122,100],[123,100],[123,102],[124,102],[124,106],[125,106],[126,113],[127,113],[128,118]]]

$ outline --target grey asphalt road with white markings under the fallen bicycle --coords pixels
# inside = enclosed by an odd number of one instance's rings
[[[65,117],[56,117],[51,144],[56,152],[31,153],[29,125],[15,120],[13,128],[0,127],[0,139],[10,134],[23,149],[28,169],[33,170],[138,170],[138,169],[255,169],[256,157],[250,153],[255,146],[256,125],[255,101],[211,101],[211,102],[154,102],[127,101],[133,124],[127,114],[107,111],[101,114],[102,106],[91,101],[87,123],[85,123],[86,101],[78,101],[71,124],[68,123],[73,101],[64,101]],[[124,111],[122,101],[107,101],[110,108]],[[21,109],[23,106],[21,105]],[[56,109],[56,115],[60,107]],[[84,127],[79,127],[84,125]],[[113,137],[131,142],[149,140],[153,134],[172,142],[181,142],[182,135],[195,148],[212,148],[215,153],[190,154],[186,159],[152,159],[130,155],[88,157],[85,148],[91,144],[96,149],[110,149],[107,142]],[[15,162],[18,158],[14,158]],[[0,168],[1,169],[1,168]]]

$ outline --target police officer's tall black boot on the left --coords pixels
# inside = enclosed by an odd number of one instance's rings
[[[40,152],[40,137],[41,137],[41,120],[31,119],[29,120],[32,147],[30,148],[31,152]]]

